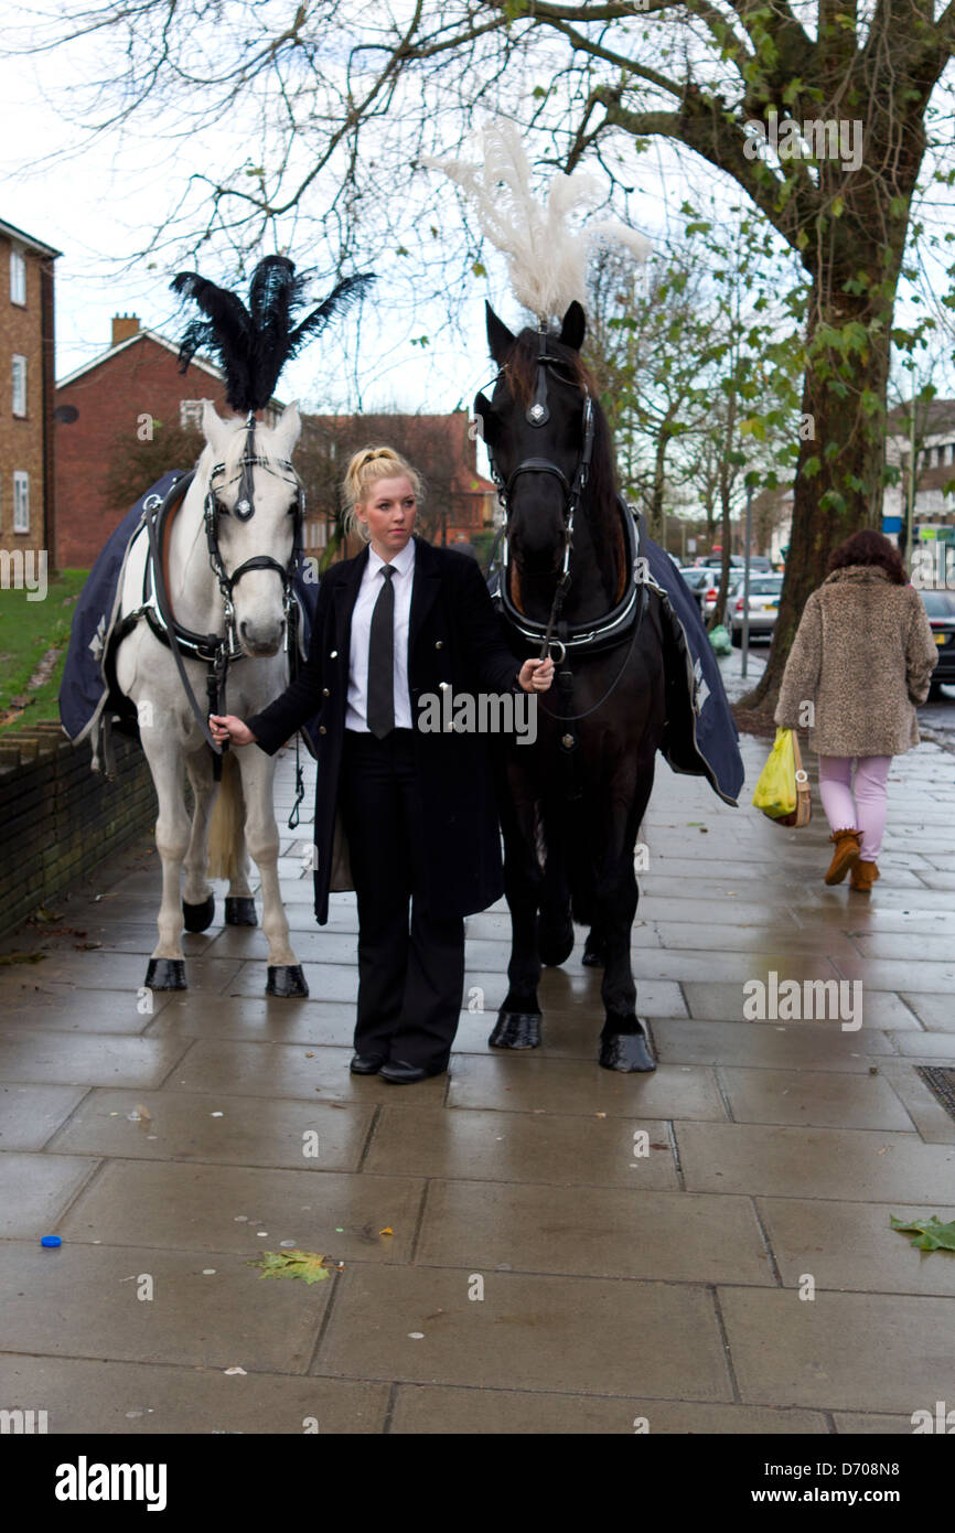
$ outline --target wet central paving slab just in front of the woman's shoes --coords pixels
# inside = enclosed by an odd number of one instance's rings
[[[596,1114],[383,1107],[363,1162],[392,1176],[676,1191],[668,1124]],[[497,1196],[501,1196],[498,1188]],[[507,1191],[510,1196],[510,1191]]]

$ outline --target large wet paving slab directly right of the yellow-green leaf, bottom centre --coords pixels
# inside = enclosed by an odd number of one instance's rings
[[[322,1375],[386,1369],[414,1384],[733,1398],[705,1288],[494,1272],[478,1300],[463,1268],[371,1265],[336,1282],[313,1367]]]

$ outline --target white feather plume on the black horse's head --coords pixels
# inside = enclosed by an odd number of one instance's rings
[[[573,227],[572,215],[589,207],[601,187],[586,170],[555,175],[544,202],[530,189],[530,166],[515,123],[495,118],[481,130],[483,164],[423,155],[472,201],[481,230],[507,261],[514,296],[540,320],[563,316],[586,302],[589,244],[616,239],[644,262],[650,244],[619,219]]]

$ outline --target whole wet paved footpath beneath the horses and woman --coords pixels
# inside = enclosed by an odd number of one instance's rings
[[[189,993],[150,1012],[147,842],[5,940],[44,958],[0,964],[0,1406],[130,1435],[909,1433],[955,1403],[955,1257],[891,1228],[955,1217],[955,1122],[915,1073],[955,1065],[955,760],[895,760],[865,897],[822,881],[816,793],[808,828],[771,825],[748,803],[766,742],[743,754],[739,809],[659,765],[633,931],[651,1076],[595,1062],[583,931],[544,973],[543,1047],[487,1049],[503,904],[468,921],[451,1075],[350,1076],[354,898],[316,926],[291,751],[310,1000],[265,998],[262,934],[222,927],[216,885]],[[747,1019],[773,973],[800,1015]],[[858,1030],[826,980],[861,993]],[[290,1242],[343,1266],[248,1265]]]

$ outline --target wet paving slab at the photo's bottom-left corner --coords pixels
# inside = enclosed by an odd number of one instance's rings
[[[293,1283],[285,1286],[294,1288]],[[259,1369],[227,1375],[222,1369],[166,1363],[94,1363],[9,1354],[0,1358],[0,1381],[5,1400],[43,1401],[51,1433],[84,1436],[90,1432],[121,1436],[380,1433],[389,1393],[386,1384],[300,1378]],[[756,1415],[773,1418],[774,1412]]]

